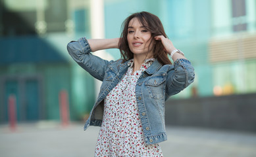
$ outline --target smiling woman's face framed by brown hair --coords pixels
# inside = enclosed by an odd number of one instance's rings
[[[151,32],[147,31],[143,27],[138,18],[132,18],[128,24],[128,35],[127,35],[128,45],[134,57],[153,57],[153,48],[149,48],[149,43],[151,43]]]

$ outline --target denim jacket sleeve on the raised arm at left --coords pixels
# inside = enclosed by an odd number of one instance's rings
[[[95,79],[103,80],[107,66],[111,61],[103,60],[91,54],[90,44],[86,37],[80,38],[78,41],[71,41],[67,45],[70,56]]]

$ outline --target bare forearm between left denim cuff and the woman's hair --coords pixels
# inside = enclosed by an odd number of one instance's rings
[[[120,38],[113,39],[88,39],[88,43],[91,47],[91,52],[95,52],[97,50],[105,50],[108,48],[118,48]]]

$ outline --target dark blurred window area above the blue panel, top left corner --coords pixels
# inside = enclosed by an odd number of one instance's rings
[[[67,0],[0,0],[0,35],[66,31]]]

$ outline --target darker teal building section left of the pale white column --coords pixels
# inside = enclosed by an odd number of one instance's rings
[[[90,111],[94,80],[66,50],[76,34],[90,33],[87,3],[0,1],[0,122],[8,122],[11,94],[16,96],[18,121],[59,120],[63,90],[72,119],[84,119]]]

